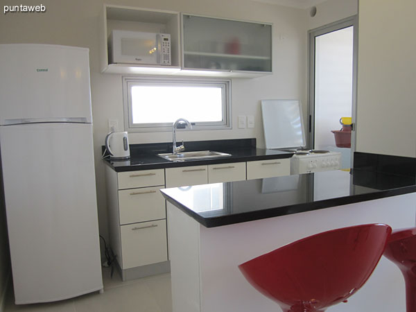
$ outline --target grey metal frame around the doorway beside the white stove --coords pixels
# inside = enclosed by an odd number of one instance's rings
[[[315,139],[315,37],[339,31],[343,28],[354,26],[353,52],[352,52],[352,134],[351,134],[351,168],[354,164],[354,152],[356,150],[356,103],[357,103],[357,74],[358,74],[358,15],[353,15],[331,24],[320,26],[308,31],[308,132],[306,146],[314,147]]]

